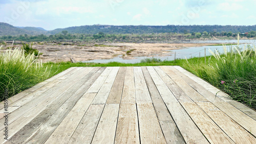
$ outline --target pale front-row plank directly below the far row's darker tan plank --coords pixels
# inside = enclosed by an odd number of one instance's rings
[[[106,104],[92,143],[114,143],[119,104]]]

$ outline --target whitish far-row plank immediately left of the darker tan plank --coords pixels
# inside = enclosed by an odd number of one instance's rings
[[[96,97],[94,98],[92,104],[105,104],[106,100],[109,97],[110,90],[113,86],[113,83],[115,81],[116,75],[118,73],[119,67],[114,67],[111,70],[111,73],[109,74],[108,78],[106,78],[105,82],[99,89]]]

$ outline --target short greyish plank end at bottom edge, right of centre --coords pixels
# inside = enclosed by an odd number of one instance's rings
[[[174,121],[159,121],[159,123],[167,143],[185,144],[185,141],[182,135],[180,134],[179,129],[175,125]]]

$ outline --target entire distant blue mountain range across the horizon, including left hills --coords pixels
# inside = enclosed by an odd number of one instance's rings
[[[246,33],[250,31],[256,31],[256,25],[254,26],[220,26],[220,25],[205,25],[205,26],[110,26],[110,25],[93,25],[93,26],[79,26],[69,27],[64,29],[55,29],[47,31],[43,28],[36,27],[13,27],[8,23],[0,22],[0,36],[3,35],[54,35],[61,33],[62,31],[68,31],[71,34],[97,34],[99,32],[109,34],[150,34],[150,33],[193,33],[193,32],[232,32],[232,33]]]

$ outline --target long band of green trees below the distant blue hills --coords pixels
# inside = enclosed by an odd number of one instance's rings
[[[54,41],[54,40],[82,40],[82,41],[123,41],[123,42],[136,42],[136,41],[164,41],[164,40],[182,40],[182,39],[202,39],[212,37],[235,38],[240,34],[240,37],[252,38],[256,37],[256,31],[247,33],[232,33],[230,32],[193,32],[189,33],[151,33],[151,34],[106,34],[99,32],[97,34],[70,34],[68,31],[62,31],[55,35],[6,35],[0,37],[0,41]]]

